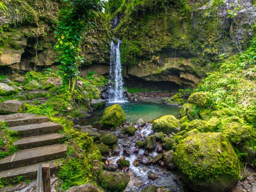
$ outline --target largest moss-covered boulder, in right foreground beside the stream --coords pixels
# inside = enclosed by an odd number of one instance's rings
[[[225,192],[240,178],[238,157],[222,133],[188,136],[178,144],[174,162],[182,180],[195,191]]]

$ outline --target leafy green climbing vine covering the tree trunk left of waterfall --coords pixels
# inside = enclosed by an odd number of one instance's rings
[[[64,8],[56,20],[56,38],[54,49],[58,53],[59,73],[62,84],[68,85],[73,92],[76,87],[78,67],[83,62],[80,56],[82,34],[94,26],[93,19],[104,7],[102,0],[64,0]]]

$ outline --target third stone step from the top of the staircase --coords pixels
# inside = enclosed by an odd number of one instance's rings
[[[19,149],[30,149],[40,146],[53,145],[64,139],[65,136],[61,133],[45,134],[21,138],[14,142]]]

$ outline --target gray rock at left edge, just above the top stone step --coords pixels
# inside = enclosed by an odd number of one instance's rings
[[[25,104],[18,100],[7,100],[0,103],[0,114],[22,113],[25,110]]]

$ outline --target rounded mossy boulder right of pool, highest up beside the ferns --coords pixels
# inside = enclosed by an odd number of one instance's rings
[[[213,104],[212,98],[212,93],[210,92],[196,92],[190,95],[188,102],[198,108],[206,108]]]

